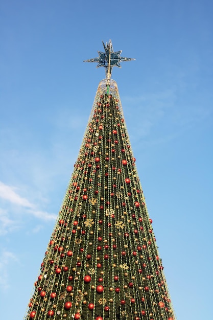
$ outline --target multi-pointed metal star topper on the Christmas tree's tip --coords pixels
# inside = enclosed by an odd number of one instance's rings
[[[121,68],[120,62],[135,60],[132,58],[120,57],[122,50],[114,52],[112,48],[111,40],[109,40],[109,43],[106,43],[106,45],[104,44],[103,41],[102,43],[103,43],[105,52],[98,51],[98,54],[99,54],[98,58],[84,60],[84,62],[97,62],[98,63],[97,68],[99,68],[100,66],[104,66],[107,79],[111,78],[113,66],[117,66]]]

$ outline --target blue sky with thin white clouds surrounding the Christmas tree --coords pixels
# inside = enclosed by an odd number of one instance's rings
[[[0,309],[22,319],[104,68],[113,68],[179,320],[212,318],[213,3],[0,5]]]

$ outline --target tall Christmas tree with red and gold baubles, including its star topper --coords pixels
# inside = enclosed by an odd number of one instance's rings
[[[25,319],[175,320],[138,178],[113,66],[133,60],[104,45],[104,66]]]

